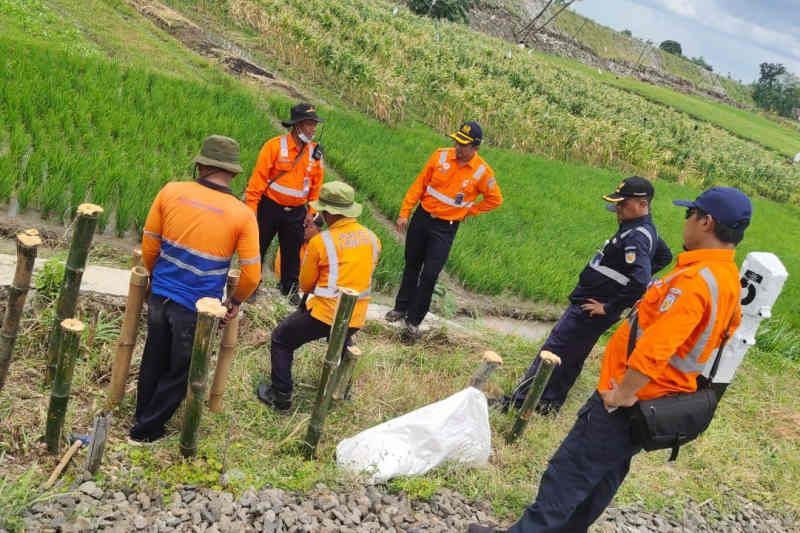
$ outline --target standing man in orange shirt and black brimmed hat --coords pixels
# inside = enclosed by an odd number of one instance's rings
[[[297,297],[300,246],[306,204],[319,198],[324,169],[322,147],[313,142],[317,116],[311,104],[297,104],[281,122],[289,133],[264,143],[245,190],[245,203],[256,213],[261,257],[278,235],[282,294]]]

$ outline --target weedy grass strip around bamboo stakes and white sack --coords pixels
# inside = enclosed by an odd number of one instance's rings
[[[20,509],[67,489],[83,460],[81,452],[52,491],[39,489],[58,460],[45,452],[41,442],[48,403],[41,381],[42,354],[52,316],[46,296],[34,298],[23,321],[8,384],[0,395],[0,516],[5,517],[6,527],[15,525]],[[82,301],[80,315],[89,327],[75,371],[67,433],[88,433],[93,414],[102,406],[121,311],[108,302]],[[253,393],[256,385],[269,377],[270,333],[290,311],[274,297],[262,298],[245,309],[224,412],[203,413],[199,452],[188,460],[178,449],[180,410],[168,426],[168,436],[158,444],[134,447],[126,441],[135,405],[136,369],[145,333],[142,327],[127,394],[114,415],[96,480],[163,495],[183,483],[234,492],[251,486],[306,491],[320,482],[347,487],[359,481],[335,466],[335,446],[341,439],[462,389],[485,349],[504,358],[488,394],[509,391],[538,348],[536,343],[488,331],[475,336],[444,330],[409,347],[399,342],[396,330],[369,323],[356,336],[364,356],[358,363],[352,397],[335,404],[326,421],[319,457],[307,460],[301,454],[300,439],[307,428],[325,344],[313,343],[297,352],[296,395],[290,414],[277,414],[259,403]],[[685,447],[676,463],[667,463],[666,453],[638,456],[618,503],[638,502],[648,509],[680,513],[687,498],[711,499],[726,509],[730,503],[724,491],[734,491],[797,517],[800,499],[794,488],[800,483],[800,465],[795,458],[800,452],[800,433],[794,391],[800,386],[800,367],[784,355],[797,349],[798,339],[790,335],[780,324],[767,331],[760,340],[763,348],[750,352],[709,431]],[[556,419],[535,418],[517,443],[509,445],[504,438],[513,419],[491,410],[492,455],[485,468],[447,464],[425,476],[393,480],[389,488],[428,498],[439,487],[450,487],[470,498],[490,501],[501,518],[518,514],[535,494],[548,458],[591,394],[599,355],[597,349],[590,357],[562,414]],[[227,474],[225,480],[223,474]]]

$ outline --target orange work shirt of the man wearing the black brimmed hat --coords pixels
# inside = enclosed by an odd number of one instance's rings
[[[265,142],[245,189],[247,206],[255,212],[262,196],[287,207],[297,207],[319,198],[325,169],[322,154],[314,157],[316,147],[316,143],[308,143],[297,159],[300,147],[292,134]],[[279,174],[282,175],[275,179]]]

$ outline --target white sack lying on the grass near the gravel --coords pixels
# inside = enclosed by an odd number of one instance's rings
[[[486,396],[468,387],[343,440],[336,447],[336,462],[366,474],[371,483],[382,483],[424,474],[445,461],[485,465],[490,448]]]

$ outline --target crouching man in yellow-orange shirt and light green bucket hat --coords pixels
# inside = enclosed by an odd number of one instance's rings
[[[259,400],[279,411],[292,406],[294,351],[307,342],[330,335],[339,287],[361,293],[350,319],[348,343],[364,325],[372,273],[381,251],[375,234],[356,222],[361,205],[355,202],[355,192],[346,183],[326,183],[319,200],[311,202],[311,206],[322,214],[328,227],[308,242],[300,271],[300,288],[313,298],[272,332],[272,383],[261,383],[256,391]]]

